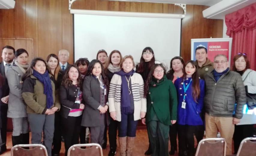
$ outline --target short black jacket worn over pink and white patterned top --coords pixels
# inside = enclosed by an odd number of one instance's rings
[[[71,85],[68,88],[66,88],[63,85],[60,86],[59,88],[59,101],[61,103],[60,113],[63,118],[68,118],[68,114],[71,109],[79,109],[80,104],[75,103],[79,90],[80,88],[74,85]],[[84,104],[83,101],[82,101],[82,104]]]

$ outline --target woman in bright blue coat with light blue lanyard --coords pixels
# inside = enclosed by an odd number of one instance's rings
[[[203,131],[200,113],[203,108],[204,80],[199,78],[192,60],[185,64],[183,73],[183,77],[174,82],[178,95],[179,154],[194,156],[194,134],[197,142],[203,139],[200,135]]]

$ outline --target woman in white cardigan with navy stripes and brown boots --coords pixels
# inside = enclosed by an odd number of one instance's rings
[[[109,112],[113,120],[119,121],[120,155],[132,156],[138,120],[146,115],[144,82],[133,70],[135,64],[131,55],[122,58],[120,67],[110,82]]]

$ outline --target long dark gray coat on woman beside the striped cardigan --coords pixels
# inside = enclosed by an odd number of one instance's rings
[[[89,75],[83,81],[83,99],[85,101],[85,109],[81,125],[85,127],[98,127],[100,125],[100,111],[98,107],[101,101],[100,82],[93,76]],[[107,102],[107,96],[105,96]],[[109,124],[109,112],[106,112],[107,125]]]

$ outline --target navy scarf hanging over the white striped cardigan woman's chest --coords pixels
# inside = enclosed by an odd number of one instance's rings
[[[125,76],[133,75],[135,71],[131,70],[130,72],[124,72],[120,70],[119,72],[115,72],[115,74],[120,75],[122,79],[122,90],[121,90],[121,112],[128,113],[131,107],[130,95],[128,91],[128,82]],[[131,80],[130,80],[131,81]],[[131,88],[130,88],[131,90]]]

